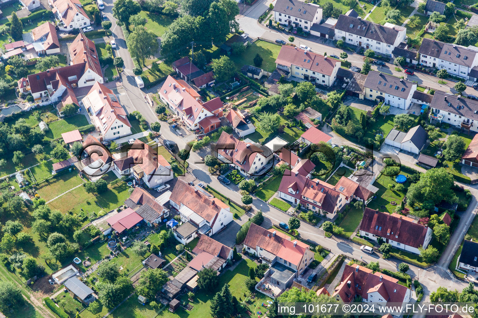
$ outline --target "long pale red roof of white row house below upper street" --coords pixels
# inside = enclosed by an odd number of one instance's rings
[[[296,65],[313,72],[331,76],[339,61],[311,51],[294,48],[290,45],[282,45],[275,62],[289,67]]]

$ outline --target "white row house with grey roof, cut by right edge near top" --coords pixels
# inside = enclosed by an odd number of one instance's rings
[[[477,80],[478,71],[472,71],[472,69],[478,66],[478,51],[424,38],[418,53],[420,54],[419,63],[424,66],[445,69],[449,74]]]

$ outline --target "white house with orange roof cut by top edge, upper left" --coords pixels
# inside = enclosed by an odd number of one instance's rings
[[[53,8],[55,19],[62,22],[58,24],[60,31],[82,29],[91,24],[79,0],[48,0],[48,4]]]

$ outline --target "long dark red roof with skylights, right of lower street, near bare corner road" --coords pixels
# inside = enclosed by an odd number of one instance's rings
[[[360,230],[418,248],[424,245],[428,227],[367,207]]]

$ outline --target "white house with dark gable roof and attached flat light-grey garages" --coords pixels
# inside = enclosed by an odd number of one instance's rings
[[[408,133],[392,129],[385,138],[385,144],[409,151],[413,154],[419,154],[426,144],[427,139],[428,134],[424,128],[421,125],[417,125],[410,128]]]

